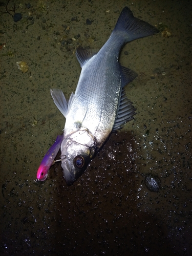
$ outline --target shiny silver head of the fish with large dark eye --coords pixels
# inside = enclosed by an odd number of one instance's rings
[[[96,154],[96,140],[87,129],[79,129],[61,143],[61,167],[70,186],[86,170]]]

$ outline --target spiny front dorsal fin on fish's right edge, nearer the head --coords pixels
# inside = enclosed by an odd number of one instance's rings
[[[136,109],[132,105],[131,100],[127,99],[125,95],[124,89],[122,89],[121,92],[121,98],[119,102],[119,109],[116,115],[116,120],[115,124],[113,126],[113,131],[117,131],[121,129],[122,125],[126,122],[129,122],[130,120],[133,119],[133,116],[136,114],[135,113]]]

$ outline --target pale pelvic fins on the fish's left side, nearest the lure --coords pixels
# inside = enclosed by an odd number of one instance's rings
[[[72,93],[69,100],[66,100],[63,92],[59,89],[51,89],[51,96],[60,112],[67,117],[75,95]]]

